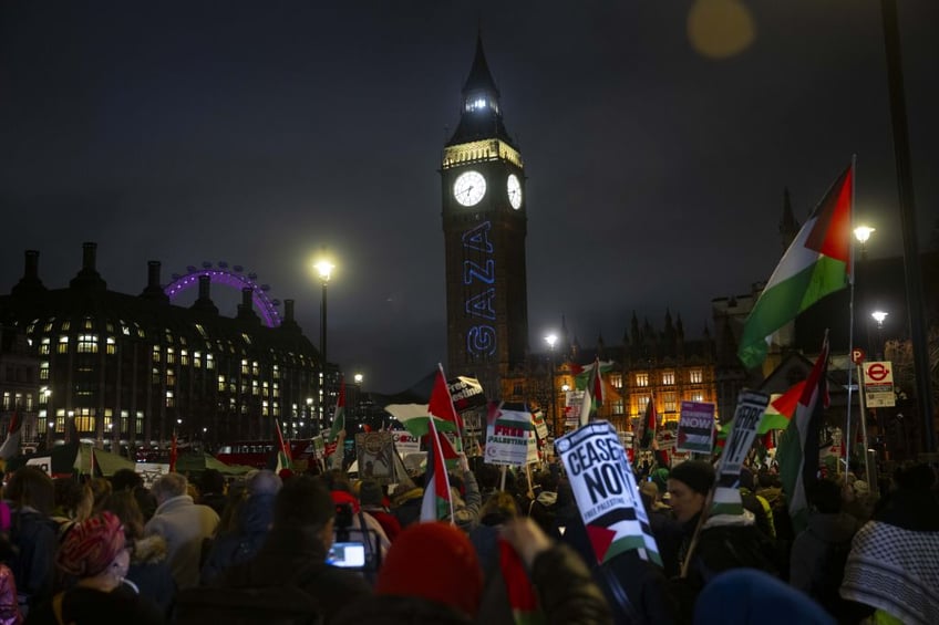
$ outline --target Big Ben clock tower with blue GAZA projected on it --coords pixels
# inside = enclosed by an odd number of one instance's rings
[[[446,249],[447,375],[477,377],[489,397],[524,364],[527,198],[522,154],[505,129],[499,92],[476,41],[456,132],[441,163]]]

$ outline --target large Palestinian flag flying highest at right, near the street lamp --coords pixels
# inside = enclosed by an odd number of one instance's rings
[[[737,356],[759,366],[777,330],[815,302],[848,285],[854,166],[838,176],[792,242],[743,326]]]

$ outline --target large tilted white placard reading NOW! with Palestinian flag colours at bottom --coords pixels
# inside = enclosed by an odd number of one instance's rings
[[[591,421],[559,438],[556,446],[597,562],[638,550],[640,558],[661,565],[636,477],[616,429],[607,421]]]

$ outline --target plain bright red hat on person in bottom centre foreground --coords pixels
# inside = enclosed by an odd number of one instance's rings
[[[416,523],[391,543],[375,593],[423,597],[475,616],[483,571],[464,532],[446,523]]]

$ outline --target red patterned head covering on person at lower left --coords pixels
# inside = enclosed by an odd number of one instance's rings
[[[75,523],[56,558],[59,566],[76,577],[93,577],[107,569],[124,549],[124,527],[111,512]]]

